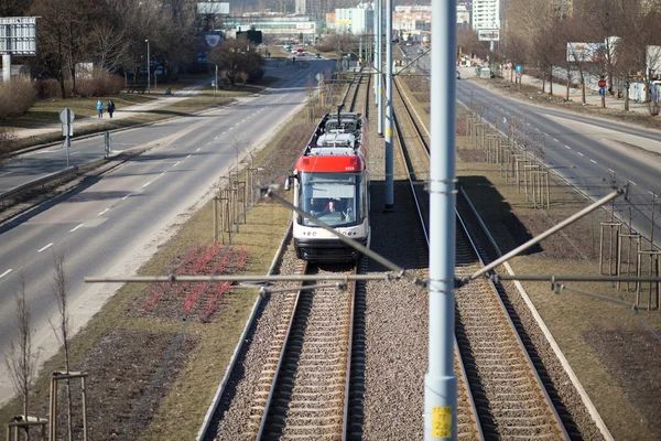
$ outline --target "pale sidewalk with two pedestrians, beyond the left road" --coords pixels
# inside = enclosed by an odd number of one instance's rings
[[[167,106],[172,103],[181,101],[183,99],[189,98],[191,95],[196,95],[202,90],[207,84],[212,82],[212,78],[199,80],[192,86],[184,87],[173,95],[162,95],[149,103],[137,104],[133,106],[116,108],[112,114],[112,119],[108,116],[107,110],[104,108],[104,118],[99,118],[98,114],[90,112],[87,116],[76,116],[74,121],[75,129],[79,130],[82,127],[88,127],[93,125],[98,125],[99,122],[124,119],[132,117],[134,115],[149,112],[151,110],[161,108],[163,106]],[[35,127],[33,129],[17,129],[12,130],[12,133],[20,139],[30,138],[30,137],[39,137],[46,133],[59,132],[62,133],[62,123],[52,123],[46,126]]]

